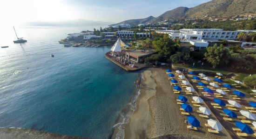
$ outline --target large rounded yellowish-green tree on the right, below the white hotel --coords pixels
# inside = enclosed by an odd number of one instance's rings
[[[229,49],[224,48],[223,45],[218,47],[217,44],[213,47],[208,47],[204,56],[204,59],[211,63],[213,68],[221,64],[228,64],[230,58]]]

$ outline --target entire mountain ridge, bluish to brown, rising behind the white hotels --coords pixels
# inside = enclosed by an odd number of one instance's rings
[[[202,19],[205,15],[223,18],[248,14],[256,14],[256,0],[211,0],[192,8],[177,7],[156,18],[150,16],[146,19],[131,19],[113,25],[129,24],[136,26],[139,24],[156,23],[166,19]]]

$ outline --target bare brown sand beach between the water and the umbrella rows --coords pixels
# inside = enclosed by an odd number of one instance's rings
[[[149,68],[142,75],[141,96],[137,101],[137,109],[130,117],[129,123],[124,125],[125,139],[231,139],[225,129],[219,134],[209,133],[204,126],[207,119],[199,116],[196,118],[202,124],[200,130],[188,130],[185,123],[187,116],[181,114],[180,105],[176,104],[178,95],[172,93],[165,71]],[[210,118],[215,117],[212,115]]]

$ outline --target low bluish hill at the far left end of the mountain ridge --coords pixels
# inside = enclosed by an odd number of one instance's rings
[[[109,25],[109,26],[124,25],[124,24],[129,24],[131,26],[137,26],[139,24],[147,24],[148,22],[150,22],[154,19],[155,19],[155,17],[149,16],[145,19],[131,19],[131,20],[122,21],[122,22],[117,23],[117,24],[112,24],[112,25]]]

